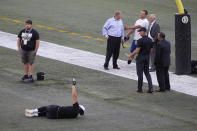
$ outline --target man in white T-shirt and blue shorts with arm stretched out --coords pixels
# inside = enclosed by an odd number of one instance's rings
[[[148,26],[149,26],[149,22],[147,20],[147,15],[148,15],[148,11],[147,10],[142,10],[140,12],[140,19],[138,19],[136,22],[135,22],[135,25],[134,26],[126,26],[125,27],[125,30],[131,30],[128,32],[128,34],[126,35],[127,38],[130,37],[130,35],[132,33],[134,33],[134,38],[133,38],[133,41],[131,43],[131,48],[130,48],[130,52],[132,53],[135,49],[136,49],[136,46],[137,46],[137,41],[142,38],[138,32],[139,28],[146,28],[148,30]]]

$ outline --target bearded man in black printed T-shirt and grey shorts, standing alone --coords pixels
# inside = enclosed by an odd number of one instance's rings
[[[33,82],[33,64],[40,45],[39,34],[32,28],[32,21],[25,22],[25,29],[18,34],[17,47],[21,53],[22,63],[24,64],[23,82]]]

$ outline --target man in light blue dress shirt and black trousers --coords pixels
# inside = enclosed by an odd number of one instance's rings
[[[113,56],[113,69],[120,69],[117,60],[120,53],[121,41],[124,41],[124,26],[121,12],[116,11],[114,17],[108,19],[103,26],[103,36],[107,39],[106,59],[104,69],[109,70],[109,61]]]

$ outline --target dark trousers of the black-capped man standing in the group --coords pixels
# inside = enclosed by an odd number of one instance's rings
[[[142,90],[143,73],[148,81],[149,89],[152,89],[152,79],[149,73],[149,55],[138,55],[136,59],[136,68],[138,75],[138,90]]]

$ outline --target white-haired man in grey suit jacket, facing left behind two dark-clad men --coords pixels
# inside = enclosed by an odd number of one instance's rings
[[[148,37],[151,38],[152,42],[153,42],[153,48],[151,49],[151,53],[150,53],[150,61],[151,61],[151,68],[150,68],[150,72],[155,71],[155,51],[156,51],[156,45],[158,42],[157,36],[158,33],[160,32],[160,26],[159,24],[156,22],[156,15],[155,14],[150,14],[149,16],[149,29],[148,29]]]

